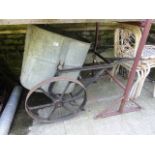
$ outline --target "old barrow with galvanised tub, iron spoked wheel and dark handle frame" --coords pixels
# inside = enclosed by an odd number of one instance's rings
[[[113,66],[83,66],[89,48],[90,43],[28,26],[20,81],[30,90],[25,101],[30,117],[54,122],[84,109],[86,87]],[[93,77],[81,78],[81,71],[92,70]]]

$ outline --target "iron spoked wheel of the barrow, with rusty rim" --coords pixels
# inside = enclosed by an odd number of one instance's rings
[[[61,92],[53,92],[56,84],[64,82],[65,87]],[[50,86],[47,91],[46,86]],[[84,110],[86,101],[86,90],[80,81],[67,77],[52,77],[28,92],[25,109],[32,119],[42,123],[53,123],[72,118],[80,110]]]

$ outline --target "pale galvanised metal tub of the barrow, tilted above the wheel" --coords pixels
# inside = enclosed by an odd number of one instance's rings
[[[27,29],[23,64],[21,70],[21,84],[31,89],[36,84],[49,77],[54,77],[57,68],[80,67],[87,56],[90,43],[78,41],[65,37],[42,28],[30,25]],[[80,71],[61,73],[58,76],[77,79]],[[54,93],[61,93],[67,82],[55,83]],[[44,86],[47,90],[49,86]],[[70,85],[66,93],[73,90],[74,85]]]

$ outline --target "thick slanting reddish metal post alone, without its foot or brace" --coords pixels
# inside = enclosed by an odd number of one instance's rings
[[[151,24],[152,24],[151,19],[146,20],[145,27],[144,27],[144,30],[143,30],[143,33],[142,33],[142,38],[140,40],[139,47],[138,47],[138,50],[137,50],[137,54],[136,54],[136,57],[135,57],[135,60],[134,60],[134,64],[133,64],[133,66],[131,68],[131,71],[130,71],[130,74],[129,74],[129,80],[128,80],[128,83],[126,85],[126,89],[124,91],[124,95],[123,95],[124,97],[123,97],[123,99],[121,101],[121,105],[120,105],[119,110],[118,110],[120,113],[123,112],[125,103],[128,100],[129,93],[130,93],[130,90],[131,90],[131,86],[132,86],[134,78],[135,78],[136,68],[137,68],[139,60],[141,58],[143,47],[144,47],[144,45],[146,43],[146,40],[147,40],[147,37],[149,35]]]

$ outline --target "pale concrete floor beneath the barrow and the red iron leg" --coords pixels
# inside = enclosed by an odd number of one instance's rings
[[[142,106],[140,111],[95,120],[94,116],[100,111],[111,105],[116,108],[123,93],[123,90],[108,78],[100,80],[87,89],[86,111],[70,120],[54,124],[32,122],[21,103],[10,134],[154,134],[155,98],[152,98],[152,91],[153,84],[146,81],[142,94],[137,99]]]

